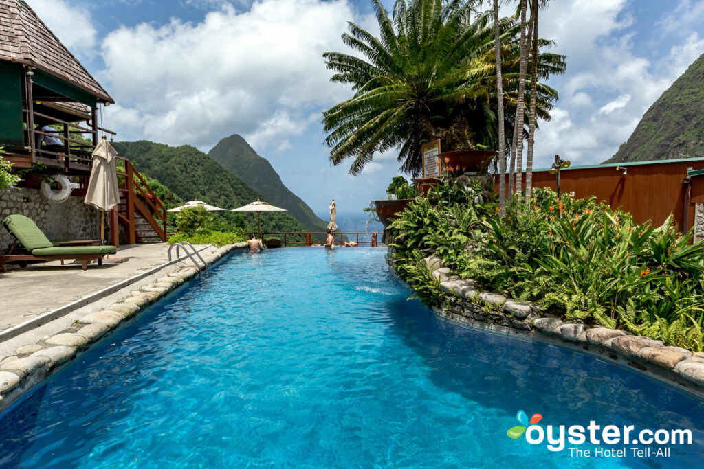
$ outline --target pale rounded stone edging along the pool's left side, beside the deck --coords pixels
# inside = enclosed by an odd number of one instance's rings
[[[247,243],[223,246],[203,255],[203,259],[210,266],[225,255],[246,248]],[[173,263],[167,263],[149,272],[153,274],[171,264]],[[86,314],[58,333],[46,335],[33,344],[21,345],[13,356],[0,356],[0,413],[44,383],[51,375],[68,366],[77,356],[87,352],[96,342],[114,333],[152,303],[198,275],[198,269],[193,265],[174,267],[156,282],[144,285],[139,290],[130,291],[130,285],[134,281],[123,285],[122,290],[117,293],[125,295],[108,307]],[[145,278],[142,274],[138,277]]]

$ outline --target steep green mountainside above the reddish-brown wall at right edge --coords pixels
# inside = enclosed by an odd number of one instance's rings
[[[704,54],[650,106],[628,141],[605,161],[704,157]]]

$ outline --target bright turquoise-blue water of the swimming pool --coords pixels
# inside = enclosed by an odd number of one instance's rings
[[[384,255],[233,255],[1,416],[0,466],[700,467],[700,401],[440,321],[406,301]],[[689,428],[694,443],[572,458],[507,437],[519,410],[541,425]]]

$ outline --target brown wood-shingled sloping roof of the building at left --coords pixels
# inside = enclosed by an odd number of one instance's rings
[[[115,102],[23,0],[0,0],[0,60],[31,65],[98,101]]]

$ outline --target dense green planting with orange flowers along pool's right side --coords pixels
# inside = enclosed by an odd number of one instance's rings
[[[564,318],[702,349],[704,245],[677,233],[672,217],[637,224],[593,198],[536,189],[505,217],[470,199],[446,206],[417,198],[391,229],[397,265],[432,251],[463,278]]]

